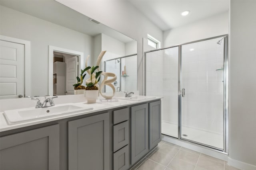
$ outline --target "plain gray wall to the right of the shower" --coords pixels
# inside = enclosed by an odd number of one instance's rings
[[[230,2],[229,157],[256,166],[255,9],[254,0]]]

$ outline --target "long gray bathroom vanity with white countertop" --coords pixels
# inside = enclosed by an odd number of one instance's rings
[[[126,170],[161,141],[160,98],[90,106],[84,113],[1,125],[0,169]]]

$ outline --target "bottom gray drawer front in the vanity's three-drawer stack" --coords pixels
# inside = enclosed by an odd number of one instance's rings
[[[129,168],[129,147],[128,145],[113,154],[113,169],[127,170]]]

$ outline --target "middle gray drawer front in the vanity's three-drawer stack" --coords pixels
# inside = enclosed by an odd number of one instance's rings
[[[114,125],[113,131],[113,152],[129,143],[129,121]]]

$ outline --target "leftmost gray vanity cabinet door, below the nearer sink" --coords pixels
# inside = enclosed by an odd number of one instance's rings
[[[1,170],[58,170],[59,125],[0,138]]]

